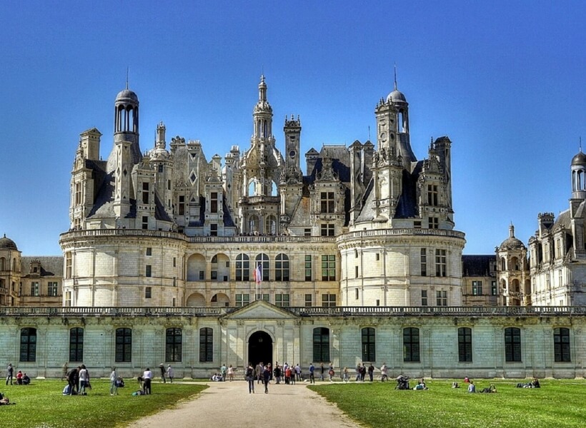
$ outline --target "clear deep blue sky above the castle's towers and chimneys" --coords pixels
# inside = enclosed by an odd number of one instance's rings
[[[79,133],[98,128],[108,156],[127,67],[142,150],[163,121],[168,143],[200,140],[209,160],[248,148],[263,71],[280,149],[291,114],[302,153],[366,141],[396,63],[417,158],[452,140],[466,254],[493,253],[510,223],[527,243],[537,213],[568,207],[586,137],[581,1],[5,1],[0,14],[0,234],[24,255],[61,254]]]

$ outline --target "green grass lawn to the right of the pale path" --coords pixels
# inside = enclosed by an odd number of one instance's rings
[[[525,380],[520,382],[527,382]],[[412,382],[413,383],[413,382]],[[470,394],[451,381],[426,381],[427,391],[399,391],[396,382],[311,387],[365,427],[585,427],[586,381],[542,381],[540,389],[516,388],[508,380],[479,380]]]

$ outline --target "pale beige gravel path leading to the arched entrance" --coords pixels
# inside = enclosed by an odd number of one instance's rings
[[[139,419],[129,428],[359,428],[334,404],[307,388],[307,383],[272,382],[268,394],[262,384],[255,384],[255,394],[249,394],[244,381],[208,385],[196,399]]]

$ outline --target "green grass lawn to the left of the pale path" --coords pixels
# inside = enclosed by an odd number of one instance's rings
[[[35,380],[30,385],[0,384],[0,392],[16,405],[0,406],[3,428],[71,428],[124,427],[129,422],[174,407],[177,402],[193,397],[206,385],[169,383],[152,384],[153,394],[134,397],[136,382],[126,382],[118,395],[110,396],[110,382],[92,380],[87,396],[64,396],[66,382]]]

